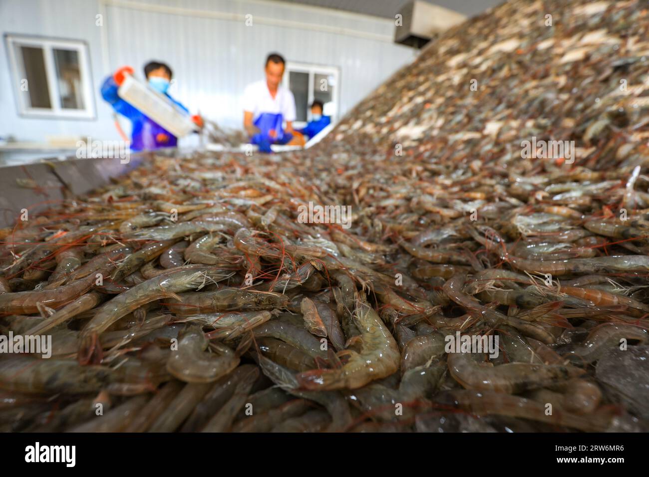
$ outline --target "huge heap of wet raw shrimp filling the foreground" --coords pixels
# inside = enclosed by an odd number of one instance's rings
[[[649,430],[648,27],[511,1],[307,151],[0,230],[0,430]]]

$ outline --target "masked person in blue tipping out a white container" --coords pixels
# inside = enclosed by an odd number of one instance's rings
[[[125,73],[132,75],[133,69],[130,66],[125,66],[118,69],[114,75],[106,78],[101,87],[101,95],[108,103],[112,104],[116,112],[130,119],[132,123],[130,149],[143,151],[160,147],[176,147],[178,145],[176,136],[117,95],[117,90],[124,80]],[[185,106],[178,103],[167,93],[173,75],[168,65],[155,61],[149,62],[144,66],[144,75],[151,88],[165,95],[179,108],[188,112]],[[192,116],[191,119],[199,128],[202,127],[200,116]]]

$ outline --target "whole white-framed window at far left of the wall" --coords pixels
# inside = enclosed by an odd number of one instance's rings
[[[6,44],[19,114],[95,117],[86,43],[6,35]]]

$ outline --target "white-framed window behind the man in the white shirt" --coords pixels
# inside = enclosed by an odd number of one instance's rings
[[[286,63],[284,84],[295,96],[296,127],[304,127],[311,119],[311,103],[319,99],[324,104],[323,114],[336,122],[339,97],[339,70],[333,66]]]

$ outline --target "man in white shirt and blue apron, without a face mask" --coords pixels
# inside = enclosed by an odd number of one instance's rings
[[[272,152],[271,144],[304,145],[304,136],[293,130],[295,98],[280,84],[285,65],[281,55],[271,53],[266,78],[249,84],[243,93],[243,127],[264,153]]]

